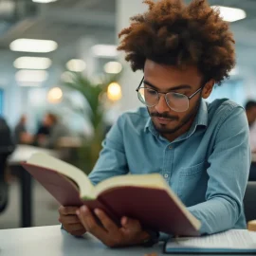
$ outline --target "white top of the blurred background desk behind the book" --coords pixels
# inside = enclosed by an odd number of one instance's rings
[[[11,155],[9,155],[8,163],[9,165],[11,165],[11,164],[17,164],[21,161],[27,161],[27,159],[31,155],[37,152],[59,157],[58,152],[54,150],[48,150],[48,149],[33,147],[29,145],[17,145],[14,152]]]

